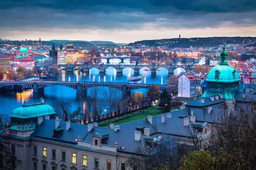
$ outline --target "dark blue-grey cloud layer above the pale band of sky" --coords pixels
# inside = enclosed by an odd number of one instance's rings
[[[239,27],[255,26],[255,16],[256,0],[6,0],[0,29]]]

